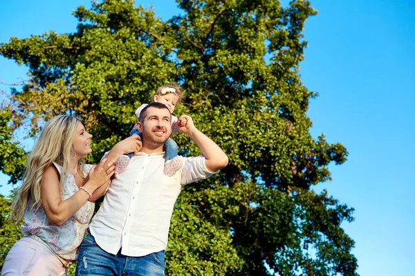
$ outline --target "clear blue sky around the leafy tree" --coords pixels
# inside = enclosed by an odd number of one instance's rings
[[[283,1],[286,3],[286,1]],[[136,1],[149,7],[149,1]],[[308,48],[300,73],[313,99],[311,133],[342,142],[349,160],[331,166],[333,181],[319,184],[356,208],[344,224],[355,240],[360,275],[415,275],[415,3],[410,0],[314,0],[306,23]],[[86,0],[2,3],[0,42],[48,30],[74,32],[71,10]],[[162,19],[180,12],[174,0],[156,1]],[[15,83],[26,68],[0,57],[0,79]],[[9,90],[1,86],[0,90]],[[0,193],[8,194],[0,176]],[[411,262],[412,261],[412,262]]]

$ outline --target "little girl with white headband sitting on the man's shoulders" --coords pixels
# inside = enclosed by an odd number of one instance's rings
[[[179,86],[160,86],[156,94],[154,94],[151,98],[154,101],[158,103],[163,103],[167,108],[169,108],[170,112],[173,114],[174,108],[176,108],[177,104],[180,103],[184,99],[184,93],[181,91],[181,88]],[[141,110],[147,106],[147,103],[142,104],[139,108],[136,110],[136,117],[137,121],[140,117]],[[178,127],[180,126],[186,126],[187,121],[185,118],[178,119],[177,117],[172,115],[172,135],[176,132],[178,132]],[[137,130],[137,126],[135,125],[133,129],[130,132],[130,135],[139,135],[142,136],[141,132]],[[177,156],[178,152],[178,146],[176,142],[169,138],[165,142],[165,162],[167,164],[167,161],[172,160],[174,157]],[[121,155],[118,157],[116,161],[116,174],[121,174],[125,171],[129,164],[129,159],[133,156],[133,153],[129,153],[128,155]]]

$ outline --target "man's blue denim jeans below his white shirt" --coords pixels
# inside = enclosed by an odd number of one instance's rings
[[[81,244],[76,266],[76,276],[80,275],[129,275],[163,276],[165,270],[164,250],[142,257],[112,255],[102,250],[91,234]]]

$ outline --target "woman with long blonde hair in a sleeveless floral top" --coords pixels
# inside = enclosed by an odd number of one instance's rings
[[[78,119],[66,115],[51,119],[42,130],[12,203],[12,219],[25,221],[24,237],[8,253],[2,276],[65,275],[77,259],[93,200],[104,195],[114,172],[107,159],[95,168],[84,164],[91,138]],[[131,141],[118,148],[129,152]]]

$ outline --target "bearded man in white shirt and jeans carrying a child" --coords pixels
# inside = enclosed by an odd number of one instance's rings
[[[187,124],[179,131],[204,156],[179,158],[174,174],[163,172],[163,144],[172,133],[172,115],[162,103],[144,108],[137,123],[142,148],[127,170],[112,180],[82,242],[76,275],[164,275],[170,218],[181,186],[208,178],[228,164],[223,150],[194,126],[192,118],[183,118]],[[107,158],[116,159],[123,153],[119,148],[114,146]]]

